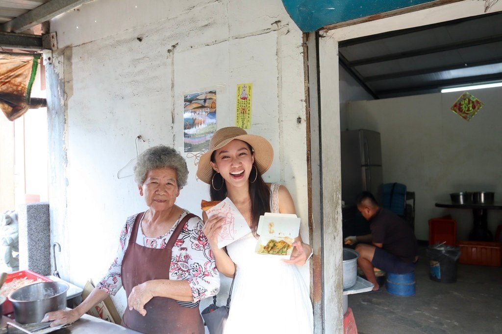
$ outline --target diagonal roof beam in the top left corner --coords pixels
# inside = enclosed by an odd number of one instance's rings
[[[0,31],[20,33],[92,0],[51,0],[0,26]]]

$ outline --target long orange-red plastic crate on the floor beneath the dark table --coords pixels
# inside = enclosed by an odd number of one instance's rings
[[[502,265],[502,243],[492,241],[459,241],[459,263],[490,265],[498,267]]]

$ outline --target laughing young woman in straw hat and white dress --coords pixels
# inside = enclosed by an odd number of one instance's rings
[[[290,260],[255,254],[260,216],[265,212],[295,213],[288,189],[262,179],[272,164],[272,145],[263,137],[227,127],[213,135],[209,146],[200,158],[197,177],[210,185],[211,200],[228,197],[252,231],[218,249],[217,234],[224,218],[207,217],[203,212],[203,231],[218,270],[233,277],[236,267],[225,333],[312,333],[309,289],[296,266],[305,264],[312,247],[298,236]]]

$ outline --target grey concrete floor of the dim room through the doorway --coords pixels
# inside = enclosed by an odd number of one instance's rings
[[[429,278],[426,247],[415,270],[416,294],[348,296],[359,334],[502,333],[502,267],[457,265],[457,281]]]

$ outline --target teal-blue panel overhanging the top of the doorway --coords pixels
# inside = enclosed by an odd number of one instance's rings
[[[324,26],[430,3],[434,0],[283,0],[296,25],[305,33]]]

